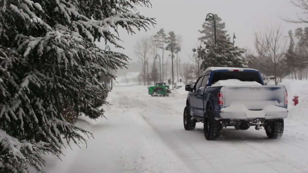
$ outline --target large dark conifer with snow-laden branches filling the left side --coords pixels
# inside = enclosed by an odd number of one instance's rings
[[[96,119],[108,104],[107,88],[95,78],[126,66],[118,27],[128,34],[155,20],[135,13],[148,0],[0,0],[0,172],[43,172],[42,153],[62,154],[63,139],[86,142],[91,133],[63,114]],[[40,18],[40,22],[31,19]],[[114,77],[111,75],[111,77]],[[69,110],[67,110],[67,108]]]

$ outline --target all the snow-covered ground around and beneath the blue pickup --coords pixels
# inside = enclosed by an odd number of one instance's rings
[[[185,131],[183,110],[187,91],[151,97],[144,86],[114,87],[113,106],[106,119],[81,117],[77,125],[91,132],[87,148],[67,148],[61,160],[46,156],[47,173],[201,173],[308,172],[308,82],[285,80],[289,117],[281,139],[268,139],[263,129],[224,129],[217,141],[207,141],[203,124]],[[293,96],[299,104],[293,105]]]

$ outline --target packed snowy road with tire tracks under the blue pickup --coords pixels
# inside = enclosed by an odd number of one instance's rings
[[[124,95],[121,90],[117,92]],[[219,140],[207,141],[202,123],[197,123],[194,131],[184,130],[185,100],[149,99],[133,90],[129,95],[127,103],[147,110],[142,116],[191,172],[308,172],[308,134],[292,131],[287,121],[285,134],[278,140],[268,139],[263,129],[241,131],[228,127]]]

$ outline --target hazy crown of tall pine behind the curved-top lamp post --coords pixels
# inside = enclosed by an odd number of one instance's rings
[[[227,31],[225,31],[225,22],[222,22],[221,18],[218,17],[217,14],[214,14],[214,18],[216,20],[216,36],[217,38],[220,37],[220,35],[225,35]],[[199,32],[203,35],[198,40],[201,40],[207,45],[213,45],[215,42],[215,35],[214,35],[214,20],[208,20],[210,24],[203,23],[202,24],[202,30],[199,30]]]

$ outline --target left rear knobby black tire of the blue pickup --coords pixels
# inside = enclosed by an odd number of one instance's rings
[[[220,136],[221,123],[215,120],[212,107],[209,107],[205,112],[203,131],[207,140],[216,140]]]

